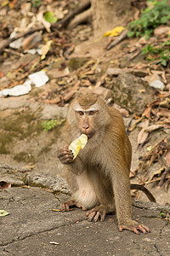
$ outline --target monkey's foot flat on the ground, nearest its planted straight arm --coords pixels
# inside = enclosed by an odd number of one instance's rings
[[[103,221],[105,219],[105,215],[107,213],[107,209],[105,206],[99,206],[94,207],[92,210],[88,211],[86,213],[86,216],[88,216],[88,221],[97,222],[100,218],[100,221]]]

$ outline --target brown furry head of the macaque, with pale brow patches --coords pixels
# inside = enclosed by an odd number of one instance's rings
[[[73,131],[84,133],[88,139],[94,137],[108,124],[110,114],[105,101],[94,94],[77,96],[70,105],[67,122]]]

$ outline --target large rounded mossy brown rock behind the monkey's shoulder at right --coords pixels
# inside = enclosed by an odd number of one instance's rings
[[[132,74],[120,74],[113,85],[114,101],[130,112],[141,113],[153,100],[154,90],[149,84]]]

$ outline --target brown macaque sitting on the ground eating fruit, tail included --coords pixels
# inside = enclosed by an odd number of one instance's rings
[[[88,143],[73,160],[68,146],[82,133],[88,136]],[[80,94],[68,110],[64,141],[58,158],[65,165],[65,179],[72,197],[63,202],[60,209],[82,207],[88,210],[88,220],[94,222],[103,221],[107,213],[116,211],[120,231],[149,232],[147,226],[134,221],[131,216],[129,172],[132,148],[121,113],[108,107],[100,96]],[[144,188],[140,185],[131,187]],[[148,195],[147,189],[142,190]],[[150,191],[148,197],[155,201]]]

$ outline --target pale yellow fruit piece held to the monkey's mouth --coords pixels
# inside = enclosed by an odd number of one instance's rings
[[[74,154],[73,160],[77,157],[80,149],[84,148],[88,143],[88,136],[83,134],[80,137],[77,137],[70,145],[69,149],[71,149],[72,153]]]

